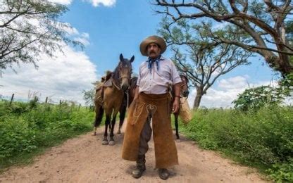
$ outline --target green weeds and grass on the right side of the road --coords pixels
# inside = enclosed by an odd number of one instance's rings
[[[292,120],[292,107],[266,106],[246,113],[199,109],[188,125],[180,123],[180,131],[204,149],[221,151],[275,180],[292,182]]]

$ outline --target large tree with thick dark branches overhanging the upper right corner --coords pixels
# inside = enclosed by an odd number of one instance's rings
[[[251,38],[249,44],[227,39],[211,32],[218,42],[233,44],[242,49],[254,51],[263,56],[268,65],[281,72],[283,76],[293,71],[289,56],[293,55],[293,46],[289,44],[286,25],[292,14],[290,0],[153,0],[162,7],[163,13],[174,22],[182,18],[197,20],[211,18],[220,23],[231,23],[247,32]]]

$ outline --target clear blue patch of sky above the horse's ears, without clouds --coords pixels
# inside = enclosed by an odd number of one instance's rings
[[[80,32],[88,32],[87,55],[96,63],[97,74],[113,70],[120,53],[130,58],[135,55],[135,70],[143,58],[139,43],[144,37],[156,34],[159,15],[154,15],[149,1],[116,1],[114,6],[94,7],[89,3],[73,1],[62,20]]]

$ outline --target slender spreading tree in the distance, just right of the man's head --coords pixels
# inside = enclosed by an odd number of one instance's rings
[[[251,52],[232,44],[214,42],[209,36],[211,23],[194,25],[185,19],[170,24],[163,19],[158,32],[172,46],[173,61],[180,72],[184,72],[197,89],[193,108],[197,109],[201,98],[220,77],[238,65],[249,64],[247,58]],[[239,32],[240,31],[240,32]],[[249,42],[241,30],[235,26],[227,26],[223,30],[214,30],[214,34],[223,35],[231,40]],[[235,34],[238,32],[238,34]]]

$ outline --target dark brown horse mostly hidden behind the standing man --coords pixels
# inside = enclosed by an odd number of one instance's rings
[[[180,78],[182,80],[181,82],[181,92],[180,92],[180,97],[188,97],[189,95],[189,90],[188,90],[188,79],[185,75],[180,75]],[[131,82],[130,82],[130,89],[128,91],[128,94],[129,94],[129,105],[130,103],[133,101],[133,98],[135,97],[135,89],[137,87],[137,77],[132,77],[131,78]],[[173,96],[173,99],[175,99],[175,94],[174,92],[172,92],[172,96]],[[125,103],[127,103],[127,101],[125,100]],[[173,103],[173,102],[172,102]],[[126,111],[126,104],[123,105],[125,107],[125,111]],[[172,106],[170,106],[172,107]],[[173,113],[174,114],[174,117],[175,117],[175,130],[176,130],[176,139],[180,139],[179,138],[179,133],[178,133],[178,115],[180,113],[180,109],[179,111],[177,111],[177,113]],[[125,118],[125,113],[124,115],[121,115],[120,113],[120,124],[119,124],[119,131],[118,133],[120,133],[120,127],[122,127],[123,125],[123,120]]]

